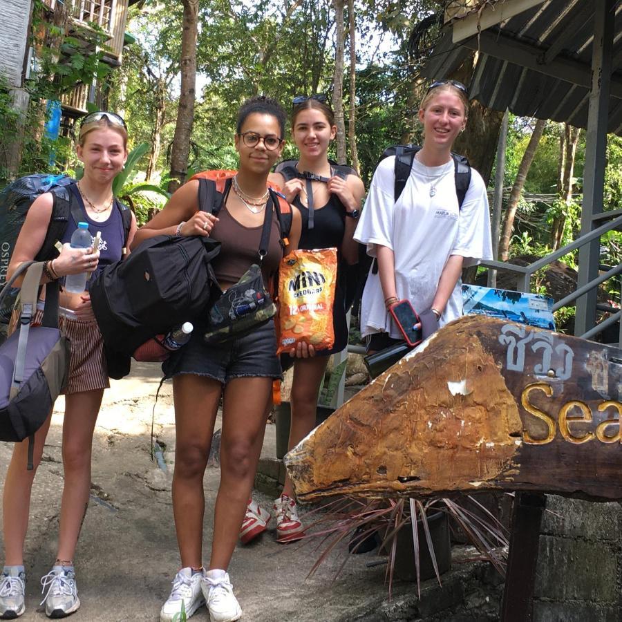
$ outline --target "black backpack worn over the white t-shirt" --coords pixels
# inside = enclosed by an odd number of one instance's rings
[[[415,159],[415,153],[420,151],[421,147],[416,144],[394,144],[391,147],[387,147],[381,154],[378,164],[388,158],[389,156],[395,156],[395,186],[393,187],[393,200],[402,195],[406,182],[411,174],[413,168],[413,160]],[[458,198],[458,209],[462,209],[462,203],[466,196],[466,191],[469,190],[471,185],[471,165],[469,160],[464,156],[458,155],[458,153],[451,153],[454,166],[454,180],[455,180],[455,194]],[[365,245],[359,246],[359,272],[357,283],[355,286],[354,298],[354,312],[358,312],[359,302],[363,296],[363,290],[367,281],[367,276],[370,271],[373,274],[378,272],[378,264],[374,258],[370,257],[366,252]]]

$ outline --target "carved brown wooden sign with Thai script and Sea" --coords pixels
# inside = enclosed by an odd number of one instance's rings
[[[622,350],[482,316],[428,339],[285,456],[301,500],[622,498]]]

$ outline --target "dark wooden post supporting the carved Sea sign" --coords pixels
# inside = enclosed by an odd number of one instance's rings
[[[527,622],[533,612],[540,522],[547,505],[545,495],[516,493],[501,607],[502,622]]]

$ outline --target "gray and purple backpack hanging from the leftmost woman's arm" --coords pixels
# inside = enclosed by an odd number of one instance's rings
[[[29,470],[35,432],[52,411],[69,372],[69,340],[58,328],[57,281],[46,287],[41,326],[30,326],[42,270],[40,261],[23,263],[0,292],[1,302],[17,276],[26,271],[19,296],[19,326],[0,346],[0,440],[20,442],[28,437]]]

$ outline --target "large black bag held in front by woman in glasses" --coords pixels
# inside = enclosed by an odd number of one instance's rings
[[[202,209],[219,200],[214,182],[199,185]],[[218,252],[220,242],[209,237],[155,236],[97,274],[89,292],[110,377],[129,373],[131,355],[145,341],[205,312],[218,291],[209,263]]]

